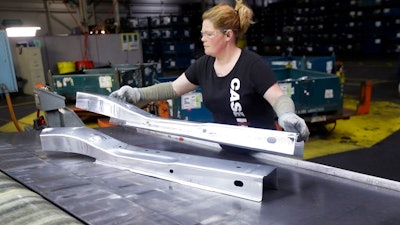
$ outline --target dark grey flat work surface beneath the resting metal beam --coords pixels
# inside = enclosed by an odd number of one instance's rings
[[[131,128],[101,131],[141,147],[273,164],[267,154],[220,152]],[[399,192],[280,163],[279,188],[259,203],[43,152],[38,132],[0,134],[0,156],[4,173],[88,224],[400,224]]]

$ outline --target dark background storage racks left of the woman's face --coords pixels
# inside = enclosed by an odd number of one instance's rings
[[[179,15],[132,18],[141,34],[144,62],[158,62],[165,73],[179,75],[197,57],[200,45],[199,11],[183,10]],[[195,7],[199,9],[199,7]]]

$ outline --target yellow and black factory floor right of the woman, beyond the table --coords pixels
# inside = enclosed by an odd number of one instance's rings
[[[314,154],[309,160],[355,172],[400,181],[400,95],[398,64],[395,60],[345,63],[346,98],[356,98],[362,80],[373,81],[371,111],[368,115],[339,121],[328,137],[311,140],[311,151],[344,149]],[[314,142],[313,142],[314,141]],[[345,146],[345,147],[344,147]]]

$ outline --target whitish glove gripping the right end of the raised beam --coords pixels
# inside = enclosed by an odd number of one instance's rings
[[[308,130],[306,122],[295,113],[283,113],[278,118],[278,123],[283,130],[298,133],[299,137],[297,141],[307,141],[308,136],[310,136],[310,131]]]

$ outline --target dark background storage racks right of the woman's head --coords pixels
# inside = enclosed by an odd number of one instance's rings
[[[400,50],[398,1],[297,0],[271,3],[254,12],[258,23],[249,29],[247,41],[260,54],[392,54]]]

